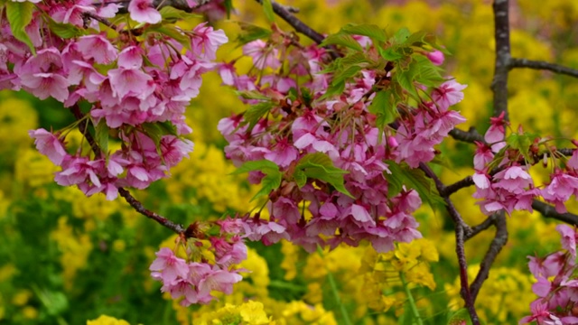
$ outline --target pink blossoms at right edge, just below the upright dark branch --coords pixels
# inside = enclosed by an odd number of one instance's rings
[[[550,148],[550,153],[542,153],[545,164],[552,161],[555,166],[550,181],[538,187],[528,172],[532,163],[524,159],[520,149],[507,145],[508,122],[504,114],[491,117],[490,123],[484,135],[487,144],[477,143],[474,155],[474,198],[481,199],[478,202],[481,211],[486,215],[500,210],[508,214],[514,210],[532,211],[532,201],[542,197],[546,202],[554,204],[558,212],[566,212],[564,202],[578,193],[578,152],[574,150],[569,159],[556,153],[555,148]],[[525,136],[521,128],[518,135]],[[522,150],[539,156],[540,142],[540,139],[536,139]],[[560,166],[557,155],[564,158],[563,166]]]

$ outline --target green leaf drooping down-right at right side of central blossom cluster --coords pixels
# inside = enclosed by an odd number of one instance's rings
[[[399,183],[404,184],[408,190],[414,189],[430,207],[445,203],[435,189],[432,179],[425,176],[422,170],[410,168],[406,163],[399,164],[393,161],[386,161],[386,163],[387,169],[391,172],[384,172],[388,182],[391,182],[394,186]]]

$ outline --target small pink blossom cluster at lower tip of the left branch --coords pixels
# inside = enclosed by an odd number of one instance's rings
[[[155,253],[156,259],[149,267],[151,276],[163,283],[162,292],[169,292],[172,299],[181,300],[182,306],[209,303],[216,299],[212,291],[230,294],[233,284],[243,279],[238,273],[244,270],[234,268],[247,259],[247,246],[238,235],[242,230],[240,220],[228,219],[218,224],[219,236],[204,240],[209,245],[198,238],[180,238],[182,245],[177,249],[184,246],[186,259],[167,247]],[[210,260],[207,252],[210,252]]]

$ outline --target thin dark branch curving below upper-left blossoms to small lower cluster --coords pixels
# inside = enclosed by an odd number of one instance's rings
[[[82,114],[82,112],[80,111],[80,107],[78,106],[78,104],[74,105],[71,108],[71,111],[77,120],[82,120],[85,117],[84,114]],[[90,148],[92,149],[92,152],[94,154],[96,154],[97,156],[100,156],[102,154],[102,152],[100,151],[100,148],[98,147],[98,144],[95,141],[94,137],[89,133],[89,130],[87,129],[87,124],[80,122],[79,123],[79,130],[80,130],[80,133],[82,135],[84,135],[84,138],[87,139],[87,141],[89,142]],[[144,215],[144,217],[146,217],[146,218],[152,218],[154,221],[158,222],[163,227],[169,228],[177,234],[184,233],[185,229],[182,227],[182,225],[176,224],[176,223],[172,222],[172,220],[170,220],[168,218],[164,218],[163,216],[161,216],[161,215],[159,215],[159,214],[157,214],[157,213],[155,213],[149,209],[145,209],[143,206],[143,203],[141,203],[139,200],[136,200],[135,197],[132,196],[128,190],[126,190],[122,187],[118,187],[117,189],[118,189],[118,193],[120,194],[120,196],[125,198],[126,202],[131,207],[133,207],[133,209],[135,209],[136,212]]]

